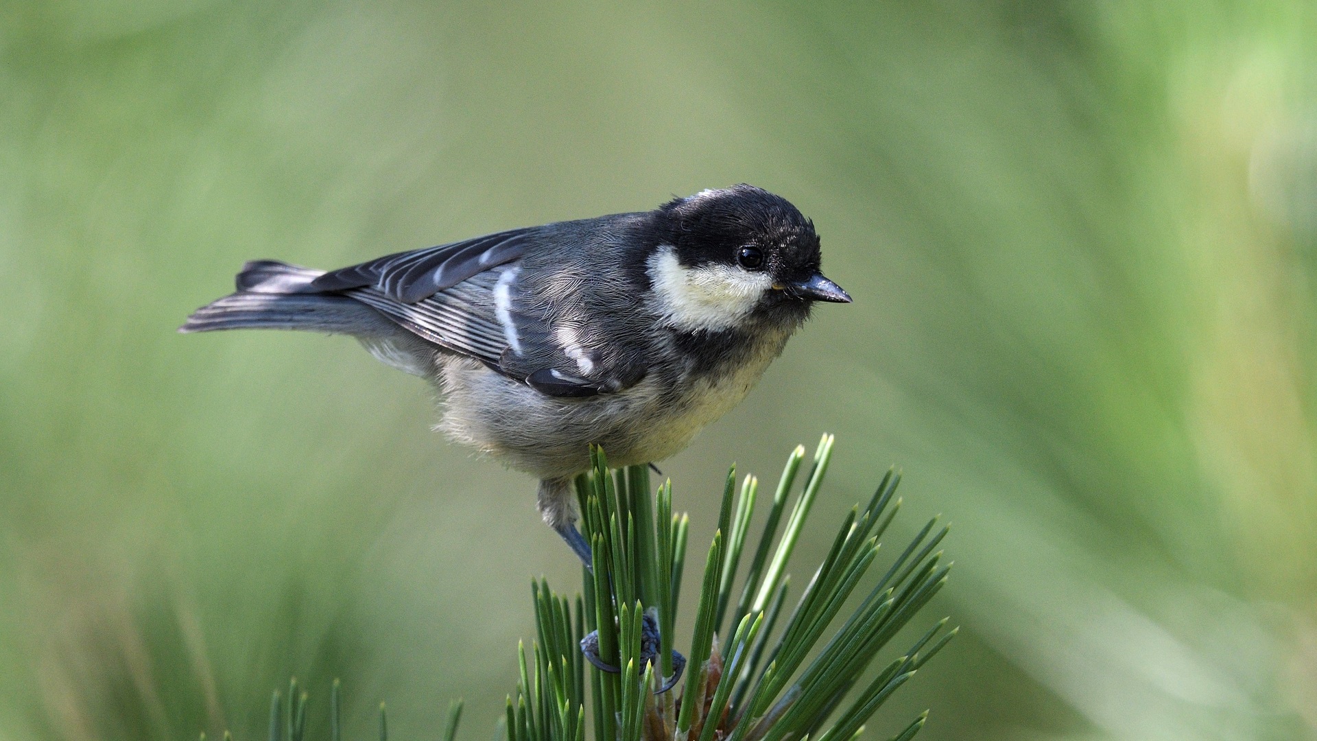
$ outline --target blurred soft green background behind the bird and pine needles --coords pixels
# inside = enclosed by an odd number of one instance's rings
[[[248,258],[743,181],[856,301],[664,471],[693,552],[823,430],[815,534],[890,463],[954,523],[872,737],[1317,738],[1303,0],[0,3],[0,738],[255,738],[292,674],[490,738],[578,579],[531,479],[350,339],[174,328]]]

